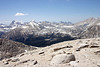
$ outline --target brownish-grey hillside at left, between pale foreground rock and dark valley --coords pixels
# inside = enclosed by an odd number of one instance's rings
[[[0,39],[0,59],[16,56],[25,50],[33,50],[35,47],[27,46],[23,43]]]

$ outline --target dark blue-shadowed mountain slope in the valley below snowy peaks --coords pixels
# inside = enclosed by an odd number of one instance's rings
[[[45,47],[54,43],[75,39],[68,34],[61,33],[49,33],[45,35],[21,33],[21,29],[12,30],[2,37],[36,47]]]

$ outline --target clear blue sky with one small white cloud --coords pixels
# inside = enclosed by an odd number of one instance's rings
[[[0,23],[71,21],[100,17],[100,0],[0,0]]]

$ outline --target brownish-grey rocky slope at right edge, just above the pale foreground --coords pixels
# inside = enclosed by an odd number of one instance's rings
[[[79,36],[80,38],[97,38],[100,37],[100,20],[85,29]]]

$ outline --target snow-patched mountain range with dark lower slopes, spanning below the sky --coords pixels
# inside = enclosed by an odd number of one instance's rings
[[[78,38],[99,37],[100,18],[88,18],[78,23],[12,21],[8,26],[0,24],[1,38],[18,41],[32,46],[48,46],[53,43]]]

